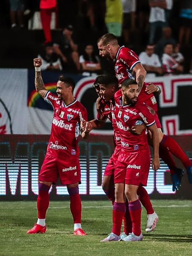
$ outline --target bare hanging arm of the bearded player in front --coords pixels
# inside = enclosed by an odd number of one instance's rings
[[[152,142],[153,142],[152,168],[153,168],[153,170],[157,171],[160,167],[160,161],[159,161],[159,133],[158,133],[156,124],[149,126],[148,130],[151,131]]]

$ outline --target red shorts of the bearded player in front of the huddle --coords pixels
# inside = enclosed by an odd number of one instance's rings
[[[149,149],[130,154],[120,153],[114,172],[114,183],[147,186],[150,162]]]

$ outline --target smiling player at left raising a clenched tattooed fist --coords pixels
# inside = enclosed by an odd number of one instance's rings
[[[38,221],[27,233],[46,232],[45,217],[49,207],[49,189],[52,184],[56,183],[59,176],[61,184],[67,186],[70,195],[70,210],[74,221],[73,234],[84,236],[86,233],[81,229],[81,198],[78,187],[81,183],[78,137],[80,122],[83,119],[87,121],[87,111],[73,96],[75,87],[73,79],[59,77],[58,97],[46,90],[41,78],[41,64],[41,58],[34,59],[35,88],[41,97],[52,105],[54,116],[47,153],[38,178]],[[83,138],[86,138],[92,129],[88,122],[85,126],[81,133]]]

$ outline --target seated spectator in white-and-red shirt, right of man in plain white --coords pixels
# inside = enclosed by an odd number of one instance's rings
[[[162,57],[162,64],[165,73],[169,74],[179,74],[183,72],[183,66],[181,66],[177,61],[172,58],[173,45],[168,43],[164,47],[164,53]]]

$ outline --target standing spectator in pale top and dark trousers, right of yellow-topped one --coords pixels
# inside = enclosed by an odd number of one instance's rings
[[[136,0],[121,0],[123,7],[123,40],[127,44],[131,31],[135,30]]]

